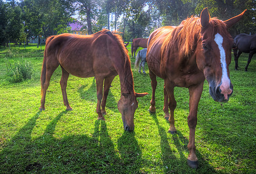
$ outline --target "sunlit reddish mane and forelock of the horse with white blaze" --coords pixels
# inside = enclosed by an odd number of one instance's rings
[[[229,35],[226,24],[222,20],[215,17],[209,21],[208,30],[210,35],[217,32]],[[182,50],[184,56],[189,56],[196,49],[197,41],[201,39],[201,23],[199,17],[189,17],[174,28],[163,42],[162,48],[171,48],[178,44],[178,48]]]

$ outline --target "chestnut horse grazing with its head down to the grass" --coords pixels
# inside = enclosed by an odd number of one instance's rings
[[[46,90],[53,72],[59,65],[62,68],[60,86],[66,110],[72,110],[66,92],[69,74],[81,78],[95,77],[98,119],[104,119],[110,84],[114,77],[119,75],[121,97],[117,104],[118,110],[122,115],[125,131],[134,130],[134,113],[138,107],[136,97],[145,96],[147,93],[134,91],[131,62],[119,35],[109,30],[102,30],[92,35],[60,34],[49,37],[46,41],[42,65],[40,110],[45,110]]]

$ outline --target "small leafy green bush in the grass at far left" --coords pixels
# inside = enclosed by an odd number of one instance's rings
[[[17,61],[16,63],[11,64],[8,59],[6,59],[6,67],[8,81],[12,83],[18,83],[26,79],[31,79],[33,74],[33,68],[27,61]]]

